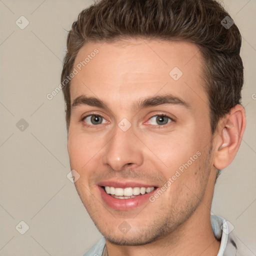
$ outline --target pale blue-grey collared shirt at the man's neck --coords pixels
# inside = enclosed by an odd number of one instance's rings
[[[220,247],[216,256],[246,256],[237,247],[237,241],[232,233],[233,226],[230,222],[217,215],[210,215],[211,228],[217,240],[220,240]],[[83,256],[104,256],[105,238],[99,239]]]

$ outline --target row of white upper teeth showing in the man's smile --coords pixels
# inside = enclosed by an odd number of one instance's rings
[[[127,199],[133,198],[134,195],[149,193],[154,190],[154,187],[113,187],[113,186],[105,186],[105,191],[108,194],[112,194],[115,198]]]

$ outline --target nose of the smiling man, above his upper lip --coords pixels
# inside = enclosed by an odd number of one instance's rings
[[[132,127],[123,131],[117,126],[104,147],[102,162],[115,171],[121,170],[125,165],[138,167],[143,162],[142,150],[141,142],[133,133]]]

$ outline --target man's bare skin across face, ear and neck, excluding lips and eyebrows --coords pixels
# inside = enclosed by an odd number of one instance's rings
[[[211,134],[202,58],[192,43],[88,42],[74,67],[95,48],[98,54],[71,80],[71,104],[83,95],[104,101],[107,108],[72,106],[67,148],[71,169],[80,175],[75,187],[106,238],[108,255],[216,255],[220,242],[210,224],[216,170],[236,154],[245,128],[243,108],[235,106]],[[183,72],[176,81],[169,75],[175,66]],[[188,106],[132,107],[145,97],[166,94]],[[92,124],[90,114],[102,115],[102,123]],[[159,125],[152,117],[161,114],[172,120]],[[123,118],[131,124],[127,131],[118,127]],[[154,202],[117,210],[97,189],[98,182],[109,179],[161,187],[198,151],[200,156]],[[131,227],[127,233],[118,228],[124,220]]]

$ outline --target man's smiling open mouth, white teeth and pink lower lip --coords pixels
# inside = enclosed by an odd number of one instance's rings
[[[157,186],[132,184],[97,185],[97,187],[107,206],[122,211],[132,210],[150,202],[149,197],[160,189]]]

